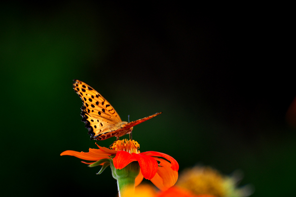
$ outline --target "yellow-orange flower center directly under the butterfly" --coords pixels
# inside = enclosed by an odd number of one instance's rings
[[[122,140],[117,140],[113,143],[111,146],[111,149],[115,151],[126,151],[129,153],[140,153],[140,144],[135,141],[135,140],[127,140],[127,139],[122,139]]]

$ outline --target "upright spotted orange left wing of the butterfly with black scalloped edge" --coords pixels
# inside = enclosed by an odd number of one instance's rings
[[[81,98],[82,120],[91,139],[94,136],[120,128],[124,124],[111,104],[95,89],[86,83],[74,79],[73,89]]]

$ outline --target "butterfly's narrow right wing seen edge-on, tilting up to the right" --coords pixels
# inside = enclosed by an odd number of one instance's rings
[[[133,127],[136,126],[136,125],[139,125],[140,123],[143,123],[159,114],[161,114],[162,112],[159,112],[159,113],[155,113],[151,116],[148,116],[148,117],[145,117],[145,118],[142,118],[142,119],[139,119],[139,120],[136,120],[136,121],[133,121],[133,122],[130,122],[130,123],[126,123],[126,124],[123,124],[121,125],[121,127],[117,130],[114,130],[114,131],[109,131],[109,132],[106,132],[106,133],[101,133],[97,136],[94,136],[94,138],[96,138],[97,140],[104,140],[104,139],[108,139],[110,137],[113,137],[113,136],[116,136],[116,137],[120,137],[120,136],[123,136],[125,134],[128,134],[130,133],[132,130],[133,130]]]

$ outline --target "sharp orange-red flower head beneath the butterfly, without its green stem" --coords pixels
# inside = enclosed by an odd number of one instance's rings
[[[99,149],[90,148],[88,153],[64,151],[61,153],[61,156],[70,155],[83,160],[96,161],[82,163],[90,164],[90,167],[100,164],[103,165],[102,169],[104,168],[104,163],[106,163],[103,159],[113,158],[113,165],[116,169],[122,169],[132,162],[138,162],[141,170],[135,180],[135,186],[142,182],[143,177],[150,180],[157,188],[163,191],[169,189],[177,182],[179,164],[167,154],[155,151],[140,153],[138,150],[140,145],[135,140],[117,140],[113,143],[111,149],[97,146]]]

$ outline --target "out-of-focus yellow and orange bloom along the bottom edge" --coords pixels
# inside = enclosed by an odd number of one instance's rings
[[[126,190],[122,197],[248,197],[250,186],[237,188],[239,173],[224,176],[211,167],[195,166],[181,173],[177,184],[166,191],[155,192],[151,185],[140,185]]]

